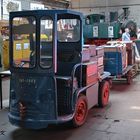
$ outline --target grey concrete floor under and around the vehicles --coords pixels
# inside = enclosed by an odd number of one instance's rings
[[[23,130],[8,122],[7,113],[6,108],[0,111],[0,140],[140,140],[140,75],[132,85],[115,82],[109,105],[91,109],[85,125],[77,129],[51,125]]]

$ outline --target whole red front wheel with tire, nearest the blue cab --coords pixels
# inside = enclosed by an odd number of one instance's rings
[[[88,104],[85,95],[80,95],[76,103],[76,112],[72,119],[73,127],[80,127],[86,121],[88,114]]]

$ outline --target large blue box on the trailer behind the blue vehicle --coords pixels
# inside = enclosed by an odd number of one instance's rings
[[[123,44],[104,46],[104,69],[111,75],[122,75],[127,66],[126,47]]]

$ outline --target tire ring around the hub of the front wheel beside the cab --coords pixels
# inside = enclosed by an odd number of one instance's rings
[[[78,111],[78,106],[80,104],[83,104],[83,103],[84,103],[84,106],[85,106],[84,116],[83,116],[83,119],[80,122],[78,122],[78,120],[76,119],[76,117],[78,117],[77,116],[78,115],[77,114],[78,113],[77,112]],[[87,103],[87,98],[86,98],[85,95],[80,95],[78,97],[75,109],[76,109],[76,112],[75,112],[75,115],[74,115],[74,117],[73,117],[73,119],[71,121],[72,127],[74,127],[74,128],[82,126],[85,123],[85,121],[86,121],[87,114],[88,114],[88,103]]]

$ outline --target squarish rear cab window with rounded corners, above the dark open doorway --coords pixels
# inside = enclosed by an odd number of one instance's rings
[[[77,42],[80,40],[80,20],[60,19],[57,22],[59,42]]]

